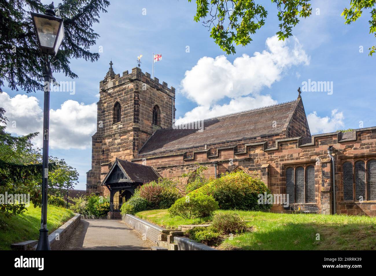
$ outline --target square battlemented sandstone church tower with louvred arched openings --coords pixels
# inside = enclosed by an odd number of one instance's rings
[[[92,136],[91,170],[86,173],[86,193],[106,195],[100,184],[116,158],[132,160],[159,128],[172,127],[175,88],[159,83],[140,68],[115,74],[110,68],[99,83],[97,132]]]

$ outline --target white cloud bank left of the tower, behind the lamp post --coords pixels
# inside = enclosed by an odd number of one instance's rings
[[[0,94],[0,103],[9,119],[7,131],[26,135],[42,131],[43,111],[38,99],[27,95]],[[50,109],[50,148],[85,149],[91,146],[91,135],[96,131],[97,105],[65,101],[60,109]],[[13,123],[15,122],[15,124]],[[41,134],[33,144],[42,147]]]

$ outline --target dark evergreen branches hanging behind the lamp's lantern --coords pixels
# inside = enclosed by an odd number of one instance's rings
[[[55,8],[64,20],[65,37],[53,62],[53,69],[77,78],[70,69],[70,59],[94,62],[99,53],[89,48],[99,34],[92,29],[101,12],[107,12],[107,0],[62,0]],[[48,5],[41,0],[0,1],[0,93],[4,81],[12,90],[42,90],[42,63],[30,11],[43,14]]]

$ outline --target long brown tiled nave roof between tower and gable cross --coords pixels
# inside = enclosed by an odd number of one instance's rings
[[[281,133],[286,129],[297,101],[206,119],[202,132],[176,129],[177,126],[157,130],[140,149],[139,155]]]

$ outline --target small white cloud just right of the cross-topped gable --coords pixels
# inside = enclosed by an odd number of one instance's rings
[[[344,116],[338,109],[333,109],[330,117],[317,116],[317,112],[308,114],[307,120],[311,134],[334,132],[344,127]]]

